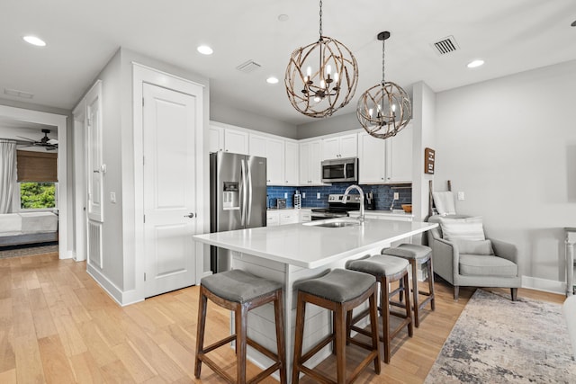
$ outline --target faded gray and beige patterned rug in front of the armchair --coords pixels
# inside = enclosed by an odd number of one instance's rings
[[[425,383],[576,383],[562,306],[476,290]]]

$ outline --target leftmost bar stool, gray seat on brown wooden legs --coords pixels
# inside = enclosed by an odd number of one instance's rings
[[[276,370],[280,371],[280,382],[283,384],[286,383],[282,287],[283,285],[279,282],[262,279],[241,270],[220,272],[202,278],[198,305],[196,360],[194,364],[194,376],[196,379],[200,378],[202,362],[204,362],[212,371],[231,383],[245,384],[258,382],[266,378],[266,376],[270,376]],[[236,333],[210,346],[204,347],[204,329],[206,327],[206,309],[208,307],[207,299],[211,299],[212,302],[222,308],[234,311]],[[257,344],[257,342],[247,337],[248,311],[269,302],[274,302],[277,353],[269,351],[263,345]],[[223,371],[217,362],[214,362],[207,356],[207,353],[210,353],[222,345],[229,344],[233,340],[236,340],[236,380],[234,380],[228,372]],[[246,380],[247,345],[255,348],[259,353],[265,354],[275,362],[251,380]]]

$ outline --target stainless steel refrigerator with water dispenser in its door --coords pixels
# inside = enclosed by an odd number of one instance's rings
[[[266,157],[210,154],[210,231],[266,227]],[[230,269],[228,249],[211,246],[211,271]]]

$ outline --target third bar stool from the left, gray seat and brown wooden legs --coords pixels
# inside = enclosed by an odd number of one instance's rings
[[[381,305],[381,316],[383,323],[383,336],[381,340],[384,344],[384,362],[389,363],[391,358],[390,344],[392,339],[398,335],[402,328],[406,326],[408,328],[408,335],[412,337],[414,328],[412,327],[412,311],[410,310],[410,289],[408,287],[408,266],[409,263],[400,258],[389,255],[374,255],[359,260],[351,260],[346,264],[347,269],[365,272],[372,274],[377,281],[380,281],[380,305]],[[396,290],[390,291],[390,283],[394,281],[403,281],[403,285]],[[406,314],[401,314],[396,311],[392,311],[390,308],[391,298],[397,294],[404,292],[406,295]],[[401,324],[391,331],[390,329],[390,317],[401,318]],[[350,329],[365,334],[366,331],[363,328],[355,326],[356,323],[366,316],[366,311],[361,312],[356,317],[350,320]]]

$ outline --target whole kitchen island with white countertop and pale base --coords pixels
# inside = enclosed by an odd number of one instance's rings
[[[325,225],[342,223],[341,227]],[[263,227],[196,235],[194,240],[230,249],[232,267],[245,270],[284,284],[284,321],[288,377],[292,370],[295,326],[295,295],[293,284],[319,275],[332,268],[343,268],[347,260],[379,254],[392,242],[436,228],[436,223],[396,220],[328,219],[280,227]],[[310,306],[306,310],[303,341],[304,351],[331,332],[331,317],[325,309]],[[230,326],[233,325],[231,321]],[[248,335],[275,350],[274,309],[264,306],[250,311]],[[326,358],[329,347],[318,353],[307,365],[313,366]],[[267,367],[270,361],[252,349],[248,357],[257,365]]]

